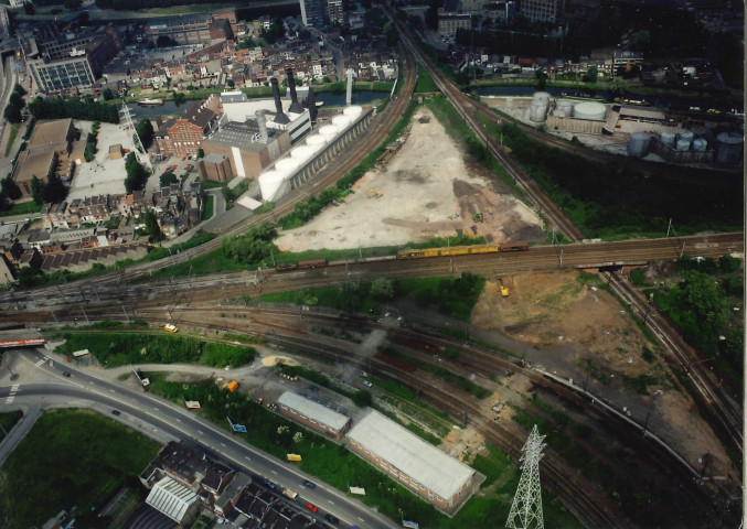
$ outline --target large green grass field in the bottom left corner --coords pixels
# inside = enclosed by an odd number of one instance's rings
[[[81,527],[98,527],[92,509],[98,511],[159,449],[141,433],[93,411],[45,412],[3,465],[3,527],[41,527],[72,505],[78,507]]]

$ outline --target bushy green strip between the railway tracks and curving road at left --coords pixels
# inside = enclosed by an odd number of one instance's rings
[[[115,332],[121,322],[108,322],[109,331],[66,331],[66,342],[57,352],[72,354],[88,349],[98,363],[106,367],[127,364],[202,364],[213,367],[243,366],[254,361],[255,349],[249,346],[234,346],[196,338],[145,333]]]

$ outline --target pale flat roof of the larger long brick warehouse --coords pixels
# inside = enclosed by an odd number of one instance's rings
[[[374,410],[348,432],[348,438],[447,500],[474,475],[469,466]]]

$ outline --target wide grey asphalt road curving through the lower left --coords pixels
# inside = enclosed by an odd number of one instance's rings
[[[11,381],[8,370],[2,369],[0,373],[0,401],[4,403],[7,409],[42,409],[50,404],[61,406],[60,399],[64,399],[67,406],[93,408],[111,419],[147,433],[160,442],[182,440],[200,446],[235,468],[248,474],[258,474],[281,487],[291,488],[299,494],[299,498],[291,505],[295,505],[299,511],[306,511],[303,506],[311,501],[319,507],[317,517],[322,521],[324,514],[331,512],[349,526],[354,525],[361,528],[397,527],[394,521],[365,507],[360,501],[349,498],[338,489],[320,483],[316,477],[248,445],[241,439],[241,434],[227,433],[191,414],[186,409],[160,400],[145,391],[134,391],[87,374],[68,363],[57,360],[57,355],[50,358],[46,350],[15,349],[10,352],[10,355],[15,356],[10,360],[7,359],[11,363],[11,369],[18,371],[17,364],[23,363],[25,364],[23,367],[28,371],[29,364],[31,364],[36,370],[42,371],[46,381],[40,381],[39,377],[34,377],[36,380],[24,384],[25,376]],[[71,377],[64,377],[63,371],[70,373]],[[36,375],[39,374],[36,373]],[[11,396],[13,397],[12,402],[8,403]],[[121,414],[113,415],[110,412],[114,409],[119,410]],[[25,431],[32,424],[33,421],[25,420],[25,418],[19,423]],[[24,433],[20,431],[15,441],[19,441]],[[11,443],[0,445],[0,461],[4,461],[7,454],[3,457],[3,453],[12,451],[12,447],[14,445],[11,445]],[[314,489],[303,487],[303,479],[316,483],[317,487]]]

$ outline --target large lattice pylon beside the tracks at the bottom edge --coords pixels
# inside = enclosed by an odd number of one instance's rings
[[[545,520],[542,516],[542,488],[540,486],[540,460],[543,455],[542,449],[545,447],[542,442],[544,439],[545,436],[537,432],[535,424],[522,449],[524,454],[521,456],[523,462],[521,478],[505,527],[511,529],[544,529],[545,527]]]

